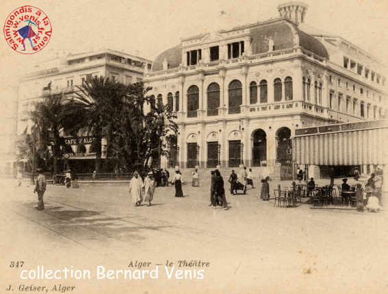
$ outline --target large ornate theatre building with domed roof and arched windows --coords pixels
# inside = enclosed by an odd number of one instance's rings
[[[183,38],[157,56],[144,82],[179,125],[166,167],[244,164],[285,180],[296,128],[383,117],[383,64],[313,32],[304,3],[278,10],[277,19]]]

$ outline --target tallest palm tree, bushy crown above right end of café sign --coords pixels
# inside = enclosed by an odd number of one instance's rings
[[[127,95],[127,86],[112,82],[109,78],[94,77],[86,80],[81,86],[77,86],[73,100],[69,107],[73,113],[78,112],[76,125],[85,127],[88,134],[92,134],[96,140],[95,169],[101,168],[101,140],[118,125],[123,97]]]

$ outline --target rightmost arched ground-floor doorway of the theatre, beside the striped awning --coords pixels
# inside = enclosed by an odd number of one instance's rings
[[[276,160],[281,163],[281,180],[292,180],[292,141],[291,130],[281,127],[276,132]]]

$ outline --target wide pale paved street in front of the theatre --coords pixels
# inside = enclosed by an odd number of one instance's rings
[[[273,191],[276,183],[270,184]],[[49,186],[38,211],[33,188],[1,186],[2,289],[21,280],[12,260],[58,269],[123,269],[135,260],[210,262],[203,280],[67,280],[73,293],[387,293],[387,212],[274,208],[247,195],[229,196],[230,209],[213,209],[209,182],[200,188],[157,188],[153,206],[131,205],[127,187]],[[160,270],[160,271],[161,271]],[[9,282],[8,282],[9,280]],[[27,281],[27,282],[26,282]],[[59,284],[59,282],[56,282]],[[17,290],[17,289],[15,289]],[[3,293],[3,290],[0,291]],[[49,292],[50,293],[50,292]]]

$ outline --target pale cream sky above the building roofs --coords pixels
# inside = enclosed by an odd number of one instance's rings
[[[109,48],[154,60],[181,38],[279,17],[279,0],[1,0],[1,25],[12,10],[34,5],[51,20],[53,35],[42,51],[23,55],[0,38],[0,101],[31,64],[57,54]],[[388,64],[387,0],[305,0],[305,23],[337,34]],[[226,12],[223,16],[220,11]]]

